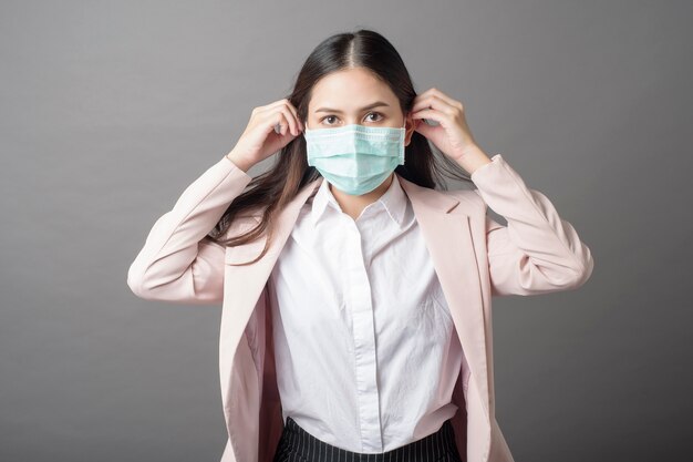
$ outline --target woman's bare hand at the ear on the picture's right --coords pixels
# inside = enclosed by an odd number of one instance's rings
[[[492,162],[472,136],[464,106],[459,101],[433,88],[414,99],[411,114],[415,124],[414,130],[467,172],[472,173],[483,164]],[[438,125],[428,125],[422,119],[435,121]]]

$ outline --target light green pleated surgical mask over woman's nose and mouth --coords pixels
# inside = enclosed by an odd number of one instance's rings
[[[397,165],[404,165],[402,127],[350,124],[330,129],[306,129],[308,165],[334,187],[351,195],[370,193]]]

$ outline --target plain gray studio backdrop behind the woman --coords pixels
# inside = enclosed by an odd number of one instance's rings
[[[516,460],[691,460],[690,1],[0,4],[0,460],[218,461],[220,308],[138,299],[127,267],[360,27],[594,255],[577,291],[495,299]]]

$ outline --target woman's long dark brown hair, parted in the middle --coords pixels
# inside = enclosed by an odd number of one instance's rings
[[[307,117],[313,85],[332,72],[350,68],[365,68],[373,72],[390,85],[404,113],[410,112],[416,91],[400,53],[380,33],[361,29],[331,35],[310,53],[296,79],[293,91],[286,96],[297,109],[300,120]],[[404,152],[404,165],[397,165],[395,172],[420,186],[445,191],[445,176],[472,182],[468,174],[449,157],[442,153],[434,155],[434,147],[418,132],[412,133]],[[254,177],[249,188],[234,198],[209,237],[223,246],[246,244],[268,232],[271,237],[276,213],[291,202],[303,186],[320,176],[316,167],[308,165],[306,140],[297,136],[279,152],[270,170]],[[238,236],[221,237],[236,217],[258,211],[261,211],[262,219],[257,226]],[[269,242],[268,238],[265,249],[255,260],[241,265],[260,259],[267,253]]]

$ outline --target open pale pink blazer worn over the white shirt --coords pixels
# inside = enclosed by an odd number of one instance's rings
[[[304,185],[280,213],[268,254],[250,266],[266,237],[223,247],[206,236],[251,176],[224,157],[159,217],[132,263],[138,297],[223,305],[219,374],[228,440],[221,462],[271,462],[283,421],[275,374],[267,281],[299,209],[322,178]],[[593,259],[549,199],[528,188],[500,154],[474,172],[477,189],[436,191],[399,176],[421,226],[464,350],[452,401],[456,444],[468,462],[513,462],[495,418],[492,296],[538,295],[580,287]],[[507,219],[493,220],[486,207]],[[259,213],[239,217],[229,235]]]

